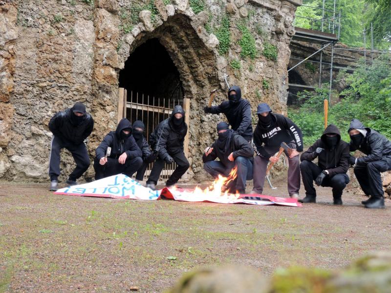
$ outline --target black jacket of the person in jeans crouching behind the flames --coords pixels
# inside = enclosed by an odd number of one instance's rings
[[[233,131],[232,129],[228,130],[232,131],[232,139],[230,139],[230,146],[228,150],[225,153],[222,153],[219,151],[219,148],[217,147],[217,141],[215,141],[212,145],[213,150],[208,155],[202,156],[202,161],[204,163],[209,161],[214,161],[216,158],[220,160],[220,162],[227,167],[227,169],[232,169],[235,166],[235,161],[231,162],[228,160],[228,156],[230,153],[233,153],[234,159],[236,159],[239,156],[252,158],[254,156],[254,149],[250,146],[250,144],[237,132]]]

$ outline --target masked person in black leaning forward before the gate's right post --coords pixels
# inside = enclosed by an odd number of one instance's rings
[[[190,167],[183,151],[186,133],[185,111],[180,105],[176,105],[171,116],[160,122],[150,135],[149,142],[153,149],[158,149],[158,158],[153,164],[147,187],[155,188],[165,163],[175,162],[177,164],[173,174],[167,180],[166,186],[177,183]]]

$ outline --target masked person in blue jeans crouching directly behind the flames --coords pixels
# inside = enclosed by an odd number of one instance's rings
[[[253,178],[254,149],[250,144],[237,132],[229,129],[225,122],[217,124],[217,140],[211,147],[205,149],[202,156],[204,169],[213,177],[218,175],[227,177],[231,169],[238,167],[237,179],[233,186],[229,186],[230,193],[238,191],[241,194],[246,193],[246,180]],[[215,161],[216,159],[219,161]]]

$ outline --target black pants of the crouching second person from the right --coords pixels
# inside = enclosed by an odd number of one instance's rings
[[[300,164],[300,170],[302,172],[303,184],[306,196],[316,196],[316,190],[314,188],[314,180],[322,172],[322,168],[315,165],[310,161],[303,161]],[[349,177],[347,174],[336,174],[334,176],[326,176],[322,182],[323,187],[331,187],[333,192],[333,198],[341,198],[342,192],[346,185],[349,183]]]

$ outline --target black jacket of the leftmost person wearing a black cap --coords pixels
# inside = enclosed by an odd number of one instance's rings
[[[73,115],[71,109],[54,114],[49,121],[49,129],[55,136],[60,137],[65,144],[70,142],[80,145],[91,134],[94,128],[94,120],[90,114],[86,114],[82,123],[75,125],[72,123],[70,115]]]

